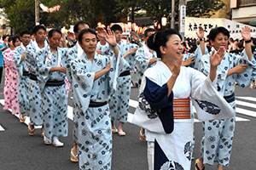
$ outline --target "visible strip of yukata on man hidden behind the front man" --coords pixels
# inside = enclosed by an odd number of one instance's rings
[[[79,45],[79,42],[76,43],[73,48],[69,48],[67,50],[67,53],[65,55],[66,60],[67,60],[67,79],[68,82],[70,83],[70,96],[73,96],[73,79],[72,79],[72,72],[71,72],[71,61],[73,59],[77,59],[78,56],[81,56],[84,53],[83,48]],[[73,106],[74,106],[74,100],[73,100]],[[78,116],[76,115],[75,111],[73,110],[73,141],[74,143],[78,144]]]

